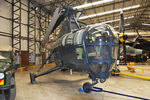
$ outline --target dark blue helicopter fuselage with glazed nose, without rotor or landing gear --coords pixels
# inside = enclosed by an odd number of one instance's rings
[[[50,43],[58,66],[106,79],[117,59],[117,38],[106,24],[87,26]]]

